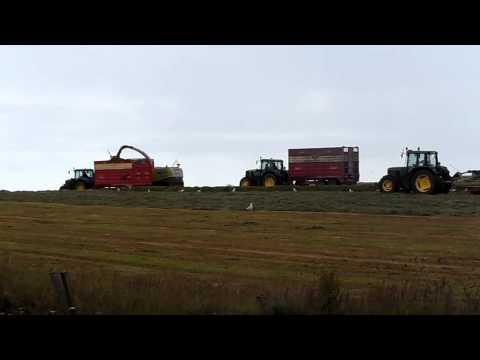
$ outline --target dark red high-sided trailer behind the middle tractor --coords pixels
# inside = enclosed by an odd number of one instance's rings
[[[358,146],[289,149],[289,182],[356,184],[360,178],[358,162]]]

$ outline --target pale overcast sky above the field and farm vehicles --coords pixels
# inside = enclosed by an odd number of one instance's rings
[[[479,64],[478,46],[0,46],[0,189],[56,190],[124,144],[186,186],[304,147],[359,146],[367,182],[406,146],[480,169]]]

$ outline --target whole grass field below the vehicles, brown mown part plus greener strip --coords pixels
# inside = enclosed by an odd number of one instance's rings
[[[87,191],[0,200],[4,303],[38,313],[57,307],[51,270],[69,271],[89,313],[262,313],[265,298],[301,312],[309,289],[335,285],[321,280],[332,271],[348,296],[374,291],[377,305],[385,296],[411,303],[405,294],[416,299],[420,283],[430,286],[424,299],[448,305],[450,290],[458,297],[480,283],[471,195]],[[250,201],[257,211],[242,210]],[[385,311],[403,311],[395,309]]]

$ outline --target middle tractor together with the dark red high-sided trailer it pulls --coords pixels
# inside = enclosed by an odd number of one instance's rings
[[[357,146],[289,149],[288,167],[283,160],[260,159],[260,168],[247,170],[240,186],[356,184],[360,178],[359,150]]]

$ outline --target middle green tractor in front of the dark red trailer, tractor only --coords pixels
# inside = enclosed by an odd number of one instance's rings
[[[257,162],[258,163],[258,162]],[[288,172],[283,166],[283,160],[260,158],[260,169],[247,170],[240,180],[240,187],[288,184]]]

